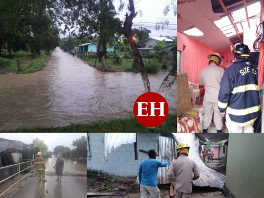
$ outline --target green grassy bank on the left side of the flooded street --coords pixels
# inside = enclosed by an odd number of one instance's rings
[[[12,52],[12,55],[0,57],[0,73],[28,74],[37,72],[43,70],[49,57],[50,55],[46,55],[45,51],[41,51],[40,57],[37,58],[29,51]]]

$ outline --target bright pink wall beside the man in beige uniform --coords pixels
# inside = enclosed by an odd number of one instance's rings
[[[200,72],[208,66],[207,56],[215,52],[222,56],[220,51],[193,40],[180,32],[177,32],[177,49],[181,51],[181,73],[187,73],[188,80],[198,84]],[[225,68],[225,63],[220,66]]]

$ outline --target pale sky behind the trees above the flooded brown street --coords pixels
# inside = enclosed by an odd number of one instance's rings
[[[118,1],[115,0],[115,7],[118,10]],[[150,37],[159,37],[160,35],[175,37],[177,32],[177,18],[174,16],[173,11],[171,10],[167,16],[163,16],[163,9],[166,4],[169,4],[171,0],[134,0],[135,10],[142,10],[143,16],[141,17],[138,13],[136,18],[133,19],[133,28],[143,27],[151,30]],[[119,13],[118,17],[123,20],[125,18],[126,9]],[[155,26],[157,21],[161,18],[166,18],[169,21],[169,26],[166,26],[165,29],[156,31]],[[64,26],[62,26],[64,28]],[[66,33],[65,36],[60,35],[61,37],[68,37],[69,33]]]

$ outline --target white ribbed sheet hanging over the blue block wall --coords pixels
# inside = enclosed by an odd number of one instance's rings
[[[105,133],[105,156],[123,144],[136,142],[136,133]]]

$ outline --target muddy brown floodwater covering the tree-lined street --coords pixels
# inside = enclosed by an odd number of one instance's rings
[[[157,92],[168,72],[149,74]],[[0,75],[0,129],[64,126],[133,113],[144,93],[140,74],[103,73],[56,48],[43,71]],[[176,110],[176,83],[166,97]]]

